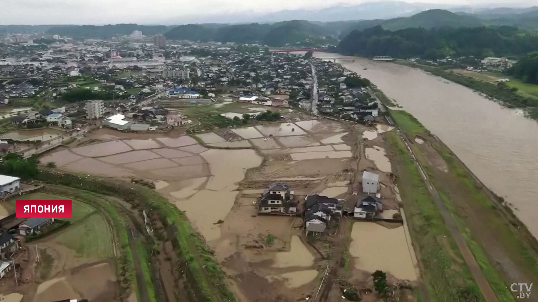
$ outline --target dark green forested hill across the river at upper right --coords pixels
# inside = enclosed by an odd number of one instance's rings
[[[525,55],[536,50],[538,34],[516,27],[442,27],[384,30],[381,26],[353,31],[337,46],[339,53],[426,59],[446,56]]]

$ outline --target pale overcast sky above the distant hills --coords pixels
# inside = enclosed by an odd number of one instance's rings
[[[182,24],[210,16],[320,9],[357,0],[0,0],[0,24]],[[372,1],[369,1],[372,2]],[[407,1],[413,2],[413,1]],[[495,6],[532,5],[535,0],[426,0],[428,3]],[[181,22],[181,17],[188,20]],[[209,19],[209,20],[208,20]],[[263,21],[263,20],[260,20]],[[171,23],[172,22],[172,23]]]

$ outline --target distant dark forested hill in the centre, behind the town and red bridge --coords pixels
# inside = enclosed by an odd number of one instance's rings
[[[334,43],[328,36],[336,33],[334,28],[305,20],[283,21],[274,24],[241,24],[209,27],[203,24],[181,25],[168,31],[167,39],[192,41],[218,41],[235,43],[263,43],[268,46],[285,46]]]

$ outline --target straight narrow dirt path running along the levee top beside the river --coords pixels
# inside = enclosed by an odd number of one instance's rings
[[[398,134],[404,140],[407,150],[412,154],[413,161],[415,162],[415,165],[419,168],[422,180],[424,181],[424,183],[426,183],[426,187],[428,187],[428,191],[430,192],[431,197],[433,197],[435,204],[439,208],[441,216],[443,217],[445,224],[447,224],[447,228],[450,231],[452,238],[454,238],[454,240],[456,241],[456,245],[458,246],[459,251],[462,253],[463,259],[469,266],[469,270],[471,271],[471,274],[475,279],[476,284],[480,288],[480,291],[482,292],[484,298],[487,302],[498,302],[499,300],[497,299],[497,296],[495,296],[495,293],[491,289],[490,283],[487,282],[486,277],[478,266],[475,256],[473,256],[471,250],[469,249],[469,246],[467,246],[465,239],[463,238],[463,235],[459,232],[458,227],[454,222],[454,219],[452,219],[452,217],[450,216],[450,212],[448,211],[446,205],[441,200],[441,196],[439,196],[439,193],[431,184],[430,180],[428,179],[428,176],[426,175],[426,173],[424,173],[419,161],[416,160],[416,156],[413,150],[409,147],[410,142],[408,137],[402,134],[400,130],[398,130]]]

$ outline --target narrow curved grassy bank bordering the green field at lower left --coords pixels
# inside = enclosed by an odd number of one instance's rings
[[[42,172],[39,174],[38,178],[47,178],[47,180],[41,179],[42,181],[60,183],[55,178],[50,177],[53,174],[53,172]],[[66,183],[60,184],[66,185]],[[134,278],[134,259],[129,246],[128,228],[125,220],[120,217],[116,211],[116,208],[114,208],[112,205],[112,202],[107,201],[105,196],[86,190],[70,190],[70,188],[62,188],[61,186],[45,186],[42,190],[47,193],[66,196],[84,203],[88,203],[104,214],[103,216],[112,226],[112,232],[115,233],[114,237],[117,238],[119,244],[120,255],[117,256],[117,263],[119,265],[116,266],[116,270],[118,276],[121,278],[121,293],[125,293],[130,289],[133,289],[138,295],[138,285],[136,278]]]

